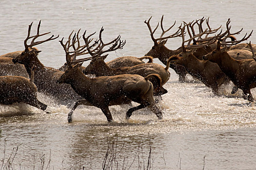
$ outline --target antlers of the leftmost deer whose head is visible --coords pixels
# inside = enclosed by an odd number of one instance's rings
[[[59,35],[57,37],[54,37],[54,35],[52,35],[50,38],[46,39],[46,40],[42,40],[42,41],[38,41],[38,42],[34,42],[39,36],[43,36],[43,35],[46,35],[46,34],[50,34],[51,32],[48,32],[48,33],[44,33],[44,34],[39,34],[39,28],[40,28],[40,24],[41,24],[41,20],[39,21],[39,24],[38,24],[38,30],[37,30],[37,34],[36,35],[33,35],[33,36],[30,36],[30,32],[31,32],[31,27],[32,27],[32,24],[33,22],[31,22],[31,24],[28,26],[28,35],[26,37],[26,39],[24,40],[24,46],[25,46],[25,51],[28,51],[29,48],[32,48],[33,46],[36,46],[36,45],[39,45],[43,42],[46,42],[46,41],[50,41],[50,40],[54,40],[56,38],[59,37]],[[30,44],[28,45],[27,44],[27,41],[29,39],[31,39],[31,42]]]

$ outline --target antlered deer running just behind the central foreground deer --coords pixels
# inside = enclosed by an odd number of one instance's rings
[[[92,56],[90,64],[83,70],[84,74],[95,74],[97,77],[98,76],[114,76],[114,75],[119,75],[119,74],[138,74],[143,77],[149,75],[149,74],[158,74],[162,82],[161,84],[164,85],[170,78],[170,72],[168,71],[169,64],[164,68],[159,64],[156,63],[144,63],[140,65],[136,65],[133,67],[121,67],[121,68],[110,68],[107,66],[107,64],[104,62],[104,59],[107,57],[107,55],[101,56],[101,54],[108,52],[113,49],[108,49],[103,51],[103,48],[106,47],[107,45],[110,45],[112,43],[118,44],[118,46],[114,47],[114,49],[121,49],[124,44],[124,42],[119,42],[120,41],[120,35],[118,35],[117,38],[115,38],[113,41],[109,43],[104,43],[101,36],[103,32],[103,27],[101,28],[99,32],[99,41],[100,43],[98,44],[98,51],[93,52],[90,49],[87,49],[87,51],[90,53]],[[88,39],[83,35],[85,43],[88,44]],[[119,42],[119,43],[118,43]],[[96,55],[96,53],[98,55]],[[162,94],[167,93],[167,90],[164,89],[163,87],[158,88],[158,83],[156,82],[154,78],[151,78],[150,81],[154,85],[154,96],[160,96]]]

